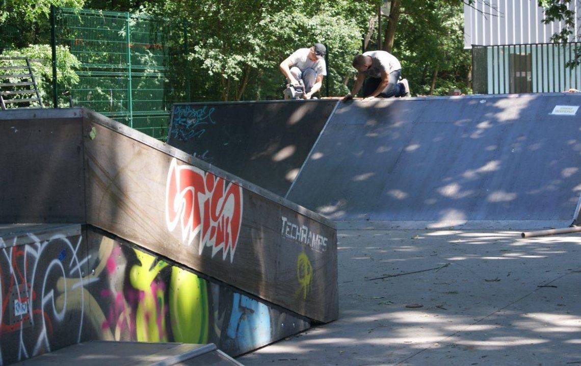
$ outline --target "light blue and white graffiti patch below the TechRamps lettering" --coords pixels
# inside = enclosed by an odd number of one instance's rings
[[[271,342],[270,313],[266,304],[234,293],[227,335],[243,349]]]

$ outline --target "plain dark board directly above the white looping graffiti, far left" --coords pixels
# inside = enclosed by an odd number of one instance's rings
[[[0,223],[85,222],[80,112],[0,113]]]

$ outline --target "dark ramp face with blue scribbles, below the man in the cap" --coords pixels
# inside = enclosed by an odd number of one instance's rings
[[[167,143],[284,196],[336,103],[178,103]]]

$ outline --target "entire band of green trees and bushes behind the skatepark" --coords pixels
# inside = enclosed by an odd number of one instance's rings
[[[458,88],[471,91],[468,80],[471,56],[462,48],[462,6],[475,1],[401,0],[393,53],[402,63],[403,77],[410,81],[413,94],[446,94],[449,89]],[[574,26],[574,15],[568,10],[570,0],[537,2],[546,8],[546,23],[564,19],[568,25],[554,35],[554,40],[569,37]],[[382,3],[382,0],[5,0],[0,8],[0,52],[12,49],[10,52],[18,56],[42,53],[38,57],[46,59],[46,64],[35,67],[39,68],[38,78],[42,79],[46,99],[52,76],[46,46],[50,35],[50,6],[133,10],[164,19],[158,38],[147,42],[170,45],[171,71],[165,72],[167,80],[139,81],[166,85],[171,95],[164,98],[173,101],[279,99],[284,77],[278,64],[296,49],[314,42],[324,43],[328,48],[328,94],[343,95],[352,84],[353,56],[360,52],[368,22]],[[383,29],[387,21],[383,17]],[[109,27],[113,33],[124,32],[116,24],[99,27],[99,31]],[[368,49],[376,49],[377,30],[376,24]],[[76,35],[71,39],[78,38],[81,44],[74,46],[82,48],[83,40],[90,37]],[[85,53],[83,58],[87,59],[82,61],[110,64],[116,70],[119,62],[114,55],[122,52],[113,52],[104,42],[97,41],[96,49]],[[38,49],[29,44],[38,45]],[[73,45],[69,46],[73,49]],[[156,54],[161,52],[158,49],[132,51],[132,62],[144,66],[144,71],[155,72],[162,66],[159,61],[162,58]],[[64,48],[59,48],[58,53],[59,89],[63,90],[78,82],[73,72],[78,61]],[[5,54],[8,53],[5,51]],[[436,85],[431,90],[435,71]],[[111,82],[118,80],[112,77]],[[326,84],[321,89],[322,95],[327,93]],[[101,92],[110,94],[110,89],[113,86]]]

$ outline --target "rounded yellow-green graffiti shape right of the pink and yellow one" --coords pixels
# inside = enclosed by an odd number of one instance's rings
[[[174,342],[207,343],[209,317],[206,281],[171,268],[170,320]]]

